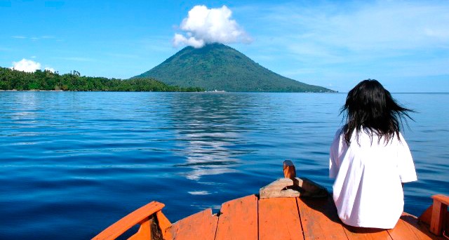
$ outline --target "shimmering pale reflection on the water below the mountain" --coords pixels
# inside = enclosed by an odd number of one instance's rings
[[[185,157],[184,163],[175,165],[185,168],[182,175],[198,181],[204,175],[237,171],[239,155],[248,152],[236,147],[244,141],[241,132],[246,131],[245,125],[251,124],[241,114],[246,107],[248,100],[232,93],[180,93],[173,97],[170,125],[181,149],[177,154]]]

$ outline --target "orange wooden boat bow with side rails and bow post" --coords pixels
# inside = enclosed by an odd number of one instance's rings
[[[338,218],[326,188],[297,178],[291,161],[284,161],[283,173],[286,178],[262,187],[259,196],[227,201],[217,214],[208,208],[171,224],[164,204],[152,201],[93,239],[116,239],[135,225],[138,232],[128,239],[449,239],[449,196],[432,196],[434,204],[420,218],[403,213],[394,229],[350,227]]]

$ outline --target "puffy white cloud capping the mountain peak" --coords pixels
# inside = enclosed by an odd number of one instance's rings
[[[250,36],[232,19],[232,11],[227,6],[207,8],[194,6],[187,18],[182,20],[180,29],[184,34],[175,34],[173,46],[189,45],[201,48],[205,44],[235,42],[249,43]]]

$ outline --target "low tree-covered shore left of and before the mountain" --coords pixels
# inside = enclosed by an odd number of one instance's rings
[[[203,92],[199,87],[179,87],[164,84],[153,78],[107,79],[98,76],[81,76],[41,71],[21,72],[0,67],[0,90],[17,91],[149,91],[149,92]]]

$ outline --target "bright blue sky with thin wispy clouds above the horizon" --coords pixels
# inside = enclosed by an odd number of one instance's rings
[[[0,66],[126,79],[182,49],[174,36],[192,35],[182,21],[201,5],[226,6],[245,39],[225,44],[283,76],[342,92],[368,78],[449,92],[449,1],[0,0]]]

